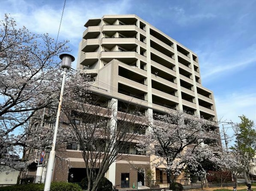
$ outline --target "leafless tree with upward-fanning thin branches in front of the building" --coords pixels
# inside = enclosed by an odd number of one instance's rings
[[[72,96],[69,96],[71,98]],[[72,127],[74,142],[79,144],[86,166],[88,190],[96,191],[110,165],[128,157],[129,148],[145,127],[137,109],[117,111],[117,100],[101,102],[101,96],[84,91],[65,101],[63,111]],[[145,129],[144,129],[145,130]],[[136,151],[134,151],[136,152]]]

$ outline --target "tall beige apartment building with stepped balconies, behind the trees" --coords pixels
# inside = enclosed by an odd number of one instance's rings
[[[77,69],[95,77],[92,92],[101,96],[99,106],[116,101],[116,112],[129,103],[131,110],[140,106],[143,115],[173,109],[217,121],[213,93],[201,84],[195,52],[134,14],[104,15],[84,26]],[[84,170],[79,148],[69,145],[66,152],[68,166],[56,166],[54,180],[71,182]],[[150,157],[135,148],[125,154],[134,164],[150,165]],[[167,180],[163,168],[153,170],[159,183]],[[121,188],[143,180],[126,160],[113,163],[106,176]]]

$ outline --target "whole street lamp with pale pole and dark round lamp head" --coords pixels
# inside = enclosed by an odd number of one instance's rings
[[[66,76],[67,70],[70,69],[71,67],[71,62],[74,61],[74,56],[69,54],[62,54],[60,55],[60,59],[62,60],[61,67],[64,69],[64,71],[63,71],[63,78],[62,78],[62,84],[60,89],[60,100],[58,104],[56,122],[54,127],[54,139],[53,139],[51,152],[50,152],[48,164],[47,164],[44,191],[50,191],[50,187],[51,187],[51,179],[54,171],[54,161],[55,161],[55,145],[56,145],[57,131],[58,131],[59,119],[60,119],[60,109],[61,109],[63,91],[64,91],[64,85],[65,85],[65,76]]]

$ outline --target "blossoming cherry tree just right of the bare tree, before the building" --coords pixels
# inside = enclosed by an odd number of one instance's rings
[[[170,183],[185,168],[184,153],[192,152],[203,142],[211,140],[217,146],[220,139],[217,124],[183,111],[170,110],[149,118],[149,133],[140,142],[139,150],[155,156],[155,166],[165,165]],[[188,149],[192,148],[192,149]]]

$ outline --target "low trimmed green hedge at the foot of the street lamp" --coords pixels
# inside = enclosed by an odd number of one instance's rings
[[[44,191],[45,184],[21,184],[0,187],[0,191]],[[52,182],[51,191],[83,191],[82,188],[68,182]]]

